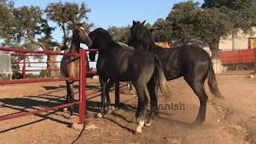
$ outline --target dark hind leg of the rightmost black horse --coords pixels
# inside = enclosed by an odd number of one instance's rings
[[[199,98],[200,106],[198,110],[198,116],[194,122],[198,124],[202,124],[206,120],[206,103],[208,100],[208,96],[206,95],[206,91],[204,88],[204,81],[194,80],[194,78],[191,78],[191,77],[185,77],[184,79],[190,85],[192,90],[194,90],[194,93]]]

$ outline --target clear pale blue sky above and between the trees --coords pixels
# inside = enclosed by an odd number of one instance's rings
[[[85,2],[91,9],[88,14],[89,22],[94,23],[94,28],[107,29],[109,26],[131,25],[133,20],[146,20],[153,24],[158,18],[166,18],[175,3],[186,0],[14,0],[14,4],[15,7],[33,5],[45,9],[49,3],[59,1]],[[202,3],[203,0],[198,0],[198,2]],[[57,29],[53,38],[61,42],[62,31]]]

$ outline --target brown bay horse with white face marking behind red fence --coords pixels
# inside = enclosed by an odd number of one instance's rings
[[[88,33],[89,30],[86,28],[84,24],[76,24],[73,30],[70,49],[67,50],[66,53],[78,54],[80,49],[80,43],[84,43],[87,46],[90,46],[92,42],[90,40]],[[87,70],[89,68],[88,66]],[[73,56],[63,56],[61,61],[61,73],[62,76],[66,78],[79,78],[79,58]],[[66,81],[66,103],[74,102],[73,85],[74,81]],[[74,115],[73,110],[74,107],[70,106],[71,117]]]

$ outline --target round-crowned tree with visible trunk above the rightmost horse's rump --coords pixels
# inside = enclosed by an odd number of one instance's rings
[[[217,9],[206,9],[198,11],[196,21],[195,30],[198,39],[209,45],[211,58],[218,59],[220,39],[227,38],[233,27],[230,17]]]

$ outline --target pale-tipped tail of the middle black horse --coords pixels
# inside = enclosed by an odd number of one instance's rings
[[[154,82],[156,82],[156,90],[161,90],[162,94],[166,97],[166,100],[170,100],[171,90],[167,84],[166,76],[162,70],[162,64],[157,56],[154,56]]]

